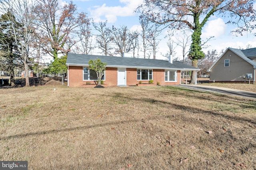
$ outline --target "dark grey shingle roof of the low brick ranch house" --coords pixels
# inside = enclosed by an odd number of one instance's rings
[[[169,63],[165,60],[158,59],[142,59],[128,57],[113,57],[104,55],[85,55],[68,53],[66,65],[89,66],[89,61],[100,59],[103,63],[107,63],[107,67],[124,67],[124,68],[152,68],[152,69],[175,69],[175,70],[200,70],[196,67],[173,61]]]

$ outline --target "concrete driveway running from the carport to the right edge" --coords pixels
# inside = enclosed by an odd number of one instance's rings
[[[236,95],[240,97],[256,99],[256,93],[236,90],[236,89],[229,89],[224,87],[214,87],[214,86],[206,86],[206,85],[185,85],[185,84],[178,85],[178,87],[184,87],[184,88],[196,89],[196,90],[202,90],[202,91],[210,91],[215,93],[224,93],[228,95]]]

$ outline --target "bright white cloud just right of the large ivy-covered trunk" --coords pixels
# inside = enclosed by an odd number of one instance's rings
[[[221,18],[208,21],[208,24],[205,26],[201,37],[209,38],[214,36],[215,38],[218,38],[226,33],[226,28],[227,26]]]

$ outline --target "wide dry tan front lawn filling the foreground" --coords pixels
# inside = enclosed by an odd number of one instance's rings
[[[40,170],[256,169],[256,100],[171,86],[53,88],[0,89],[0,160]]]

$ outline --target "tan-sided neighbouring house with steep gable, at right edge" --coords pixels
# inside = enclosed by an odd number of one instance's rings
[[[256,48],[228,48],[208,71],[210,82],[255,83]]]

